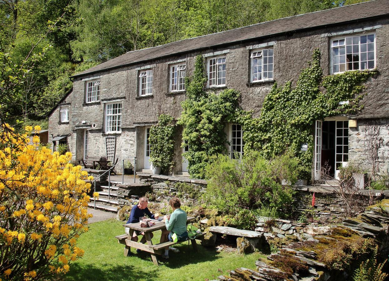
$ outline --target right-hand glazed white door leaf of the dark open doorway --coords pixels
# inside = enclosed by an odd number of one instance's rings
[[[336,121],[335,130],[335,179],[339,179],[339,168],[346,167],[349,160],[349,121]]]

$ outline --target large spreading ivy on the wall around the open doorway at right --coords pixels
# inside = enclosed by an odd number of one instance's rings
[[[347,71],[323,77],[320,51],[315,49],[312,62],[301,70],[296,87],[292,88],[290,81],[283,87],[274,84],[265,97],[259,118],[252,118],[246,111],[236,114],[236,121],[243,126],[245,150],[257,149],[266,158],[286,149],[295,151],[300,161],[300,177],[310,179],[315,120],[361,109],[361,83],[374,73]],[[339,105],[340,101],[349,103]],[[308,144],[308,151],[301,151],[303,143]]]

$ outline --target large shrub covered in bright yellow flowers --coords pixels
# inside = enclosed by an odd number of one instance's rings
[[[0,280],[48,279],[82,257],[91,184],[87,172],[39,145],[31,126],[0,127]],[[34,128],[39,131],[39,126]]]

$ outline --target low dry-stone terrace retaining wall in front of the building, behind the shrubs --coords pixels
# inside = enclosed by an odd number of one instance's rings
[[[191,184],[195,187],[200,187],[201,192],[204,193],[207,189],[207,181],[199,179],[189,179],[188,177],[179,176],[166,176],[166,175],[151,175],[149,173],[137,173],[140,178],[140,182],[144,184],[150,184],[152,190],[156,194],[169,197],[169,194],[176,192],[175,184],[177,182],[184,182]],[[345,213],[343,206],[345,205],[341,198],[333,191],[333,187],[323,188],[321,186],[293,186],[296,191],[294,195],[295,203],[294,207],[296,211],[303,211],[307,209],[308,202],[312,198],[312,194],[315,193],[315,207],[319,212],[319,216],[342,216]],[[389,190],[361,190],[361,194],[373,199],[389,198]]]

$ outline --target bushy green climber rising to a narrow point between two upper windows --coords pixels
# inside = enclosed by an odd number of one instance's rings
[[[240,94],[228,89],[220,94],[204,90],[207,78],[204,75],[204,59],[197,56],[195,71],[186,78],[186,101],[178,121],[184,128],[183,145],[189,145],[184,153],[191,177],[204,178],[205,167],[212,156],[226,151],[225,122],[235,116]]]

